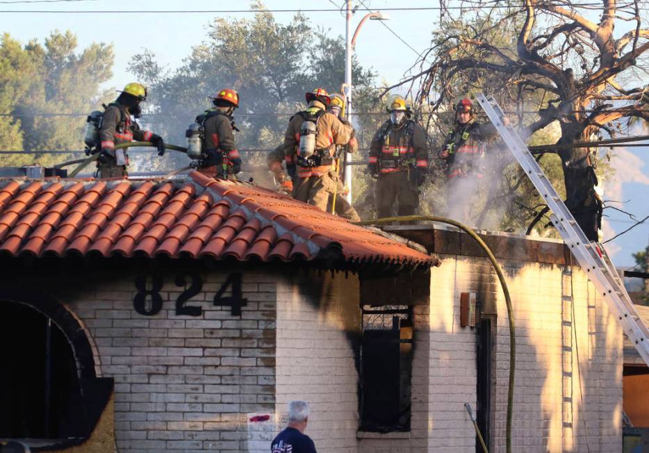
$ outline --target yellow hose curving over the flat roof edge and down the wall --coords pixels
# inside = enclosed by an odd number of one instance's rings
[[[516,335],[514,332],[514,308],[512,308],[511,306],[511,297],[509,297],[509,289],[507,288],[507,282],[504,279],[504,273],[502,272],[498,261],[496,261],[495,256],[491,252],[491,249],[489,249],[484,240],[482,240],[482,238],[480,238],[480,236],[478,236],[475,231],[473,231],[469,227],[466,227],[466,225],[461,224],[456,220],[447,219],[445,217],[437,217],[435,215],[402,215],[398,217],[384,217],[382,219],[356,222],[356,225],[381,225],[392,222],[415,222],[419,220],[450,224],[463,230],[465,233],[475,239],[480,247],[482,247],[482,249],[488,256],[489,261],[491,261],[491,265],[493,265],[493,270],[495,270],[495,273],[498,275],[500,287],[502,288],[502,293],[504,294],[505,304],[507,305],[507,318],[509,319],[509,386],[507,389],[506,438],[507,453],[511,453],[511,414],[514,406],[514,373],[516,371]]]

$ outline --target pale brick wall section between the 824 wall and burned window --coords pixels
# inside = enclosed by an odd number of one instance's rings
[[[277,289],[277,417],[284,426],[290,400],[309,402],[306,434],[319,452],[356,452],[358,295],[344,273],[299,274]]]

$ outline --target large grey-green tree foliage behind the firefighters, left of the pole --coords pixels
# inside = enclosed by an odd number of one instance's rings
[[[255,3],[252,8],[263,8]],[[222,88],[239,92],[235,120],[239,148],[274,148],[284,140],[288,119],[305,108],[304,93],[317,87],[338,92],[345,79],[345,45],[340,36],[313,28],[304,15],[279,24],[272,13],[262,11],[240,20],[214,19],[206,39],[193,47],[184,64],[174,71],[158,65],[149,51],[136,55],[130,69],[149,87],[149,129],[170,143],[183,145],[185,130],[203,110],[209,97]],[[352,62],[354,93],[361,97],[356,109],[371,104],[365,96],[375,74]],[[263,168],[265,155],[246,153],[245,163]],[[147,161],[148,168],[186,165],[184,156]],[[268,172],[254,174],[268,182]]]

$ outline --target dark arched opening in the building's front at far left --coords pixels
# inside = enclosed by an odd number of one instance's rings
[[[87,434],[74,351],[52,318],[1,301],[0,363],[0,438]]]

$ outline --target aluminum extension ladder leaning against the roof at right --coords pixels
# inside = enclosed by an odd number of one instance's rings
[[[552,210],[550,220],[561,237],[564,238],[570,252],[577,258],[577,262],[586,271],[595,288],[607,302],[611,312],[618,318],[626,336],[636,347],[645,363],[649,365],[649,330],[636,312],[623,281],[611,263],[606,250],[598,242],[590,242],[586,238],[584,231],[550,184],[523,139],[513,127],[504,126],[502,123],[504,113],[498,103],[491,97],[487,99],[482,93],[477,94],[477,100],[495,129],[500,133],[502,140],[518,160],[520,167],[523,167],[536,190],[539,190],[545,203]]]

